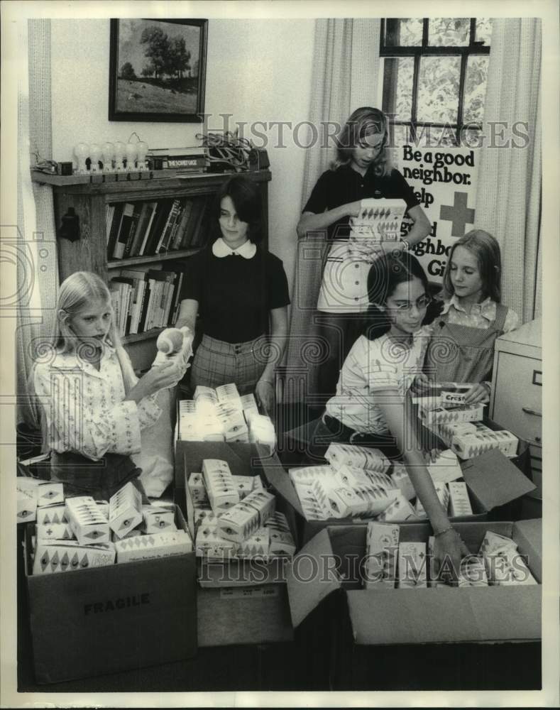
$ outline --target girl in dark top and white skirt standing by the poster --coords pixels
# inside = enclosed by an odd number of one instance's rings
[[[319,370],[319,390],[332,395],[341,364],[361,333],[368,309],[367,280],[370,261],[348,256],[351,217],[358,217],[361,200],[402,199],[414,224],[401,241],[385,249],[404,251],[429,234],[430,224],[405,178],[388,159],[388,122],[382,111],[356,109],[336,139],[336,160],[321,175],[297,224],[297,234],[324,231],[331,242],[324,267],[317,310],[321,334],[329,344],[329,357]]]

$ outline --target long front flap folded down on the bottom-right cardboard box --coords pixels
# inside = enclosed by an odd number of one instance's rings
[[[362,645],[529,641],[541,638],[540,586],[347,591]]]

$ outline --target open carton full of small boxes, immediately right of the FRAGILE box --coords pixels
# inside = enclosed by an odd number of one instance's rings
[[[267,481],[278,457],[245,442],[187,442],[177,455],[184,483],[176,479],[175,501],[197,555],[199,646],[292,640],[285,569],[296,552],[294,516]]]

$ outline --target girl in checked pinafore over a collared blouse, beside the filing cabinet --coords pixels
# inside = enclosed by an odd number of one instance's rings
[[[501,302],[498,241],[482,229],[457,239],[444,272],[441,314],[434,322],[425,373],[414,386],[472,382],[466,403],[488,401],[494,344],[517,328],[517,313]]]

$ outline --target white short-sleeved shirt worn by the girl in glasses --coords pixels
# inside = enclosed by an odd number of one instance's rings
[[[431,327],[420,328],[410,346],[395,342],[388,334],[375,340],[359,337],[344,361],[326,413],[356,432],[386,434],[388,425],[378,403],[382,398],[395,402],[395,396],[404,401],[412,381],[422,372],[431,334]]]

